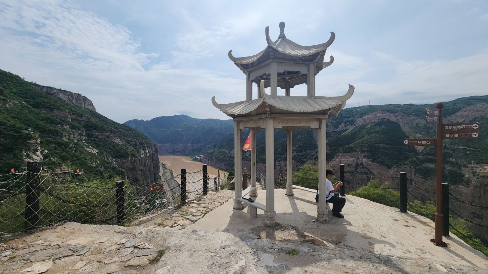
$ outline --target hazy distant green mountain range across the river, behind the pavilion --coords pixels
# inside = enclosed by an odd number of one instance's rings
[[[488,95],[463,97],[444,102],[444,119],[447,122],[476,121],[486,124],[481,127],[482,137],[477,140],[446,140],[445,153],[456,153],[451,163],[488,164],[488,153],[479,148],[488,148]],[[327,159],[340,157],[343,153],[361,152],[374,163],[387,168],[407,163],[416,163],[428,155],[431,147],[405,146],[406,138],[434,138],[435,125],[425,122],[425,105],[378,105],[348,108],[327,122]],[[212,164],[231,169],[234,162],[233,121],[196,119],[186,115],[162,116],[149,121],[130,120],[129,125],[151,138],[160,148],[160,154],[197,155],[205,153]],[[249,130],[243,130],[243,140]],[[286,136],[282,130],[275,131],[276,161],[286,161]],[[293,131],[293,160],[304,164],[317,160],[317,132],[312,129]],[[257,133],[258,163],[264,163],[264,130]],[[463,149],[459,149],[462,147]],[[419,154],[420,153],[420,154]],[[424,155],[426,154],[426,155]],[[249,156],[244,153],[244,160]],[[449,160],[447,160],[449,161]],[[432,173],[424,167],[425,177]]]

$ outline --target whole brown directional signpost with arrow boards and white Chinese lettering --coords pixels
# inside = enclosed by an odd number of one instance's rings
[[[443,124],[442,109],[444,103],[438,102],[435,108],[426,108],[427,124],[437,124],[436,139],[405,139],[407,146],[437,146],[437,210],[435,213],[435,235],[430,241],[437,246],[447,246],[442,241],[442,140],[443,139],[478,139],[481,127],[478,122]],[[449,218],[448,216],[446,218]]]

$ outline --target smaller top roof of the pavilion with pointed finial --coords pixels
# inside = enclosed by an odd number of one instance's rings
[[[245,56],[245,57],[234,57],[232,55],[232,50],[229,51],[228,55],[229,58],[238,66],[244,73],[247,71],[247,69],[251,66],[249,64],[258,61],[260,58],[264,57],[265,59],[270,59],[269,57],[269,51],[277,51],[283,55],[285,55],[284,59],[288,59],[290,61],[292,60],[307,60],[309,62],[312,61],[320,61],[322,65],[322,62],[324,60],[324,55],[325,51],[327,50],[327,47],[329,47],[332,42],[335,39],[335,34],[333,32],[330,32],[330,37],[329,39],[322,44],[318,45],[313,45],[313,46],[302,46],[300,44],[297,44],[293,42],[292,40],[286,38],[285,36],[285,23],[281,22],[280,23],[280,36],[276,41],[272,41],[271,38],[269,37],[269,26],[266,27],[265,29],[265,34],[266,34],[266,43],[267,46],[264,50],[259,52],[256,55],[251,55],[251,56]],[[314,56],[311,56],[314,55]],[[286,58],[286,56],[289,56]],[[306,56],[310,56],[308,58],[305,58]],[[290,58],[291,57],[291,58]],[[331,57],[331,61],[324,63],[325,66],[327,67],[333,62],[333,57]],[[261,62],[257,62],[261,63]],[[322,67],[322,66],[321,66]],[[322,67],[322,68],[323,68]],[[320,68],[320,69],[322,69]]]

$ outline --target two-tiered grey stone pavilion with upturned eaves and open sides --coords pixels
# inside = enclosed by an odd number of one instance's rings
[[[229,58],[246,75],[246,96],[244,101],[230,104],[218,104],[215,96],[213,105],[234,120],[234,172],[235,197],[234,209],[250,208],[252,217],[257,217],[257,209],[264,210],[265,223],[275,222],[274,197],[274,130],[286,131],[287,145],[287,186],[285,195],[292,196],[293,189],[298,188],[315,193],[309,189],[293,184],[292,168],[292,131],[300,128],[313,128],[319,132],[319,205],[317,221],[327,221],[327,205],[325,202],[325,168],[326,168],[326,123],[330,115],[337,116],[347,99],[354,93],[354,87],[349,85],[346,94],[342,96],[316,96],[315,75],[332,65],[334,57],[324,62],[327,48],[335,39],[330,32],[330,38],[323,44],[301,46],[285,36],[285,23],[280,23],[280,35],[276,41],[269,37],[269,27],[265,29],[266,48],[256,55],[234,57],[229,51]],[[253,83],[258,86],[256,98],[253,98]],[[306,85],[306,96],[293,96],[291,89],[297,85]],[[270,88],[271,94],[264,92]],[[278,94],[278,88],[285,90]],[[242,129],[251,130],[251,183],[242,190]],[[245,196],[257,197],[256,192],[256,130],[265,130],[266,144],[266,203],[249,201]],[[252,199],[252,198],[251,198]]]

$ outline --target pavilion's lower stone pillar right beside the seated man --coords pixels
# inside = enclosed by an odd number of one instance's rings
[[[319,208],[317,209],[317,221],[321,223],[327,221],[327,203],[325,201],[326,126],[327,119],[319,119]]]

